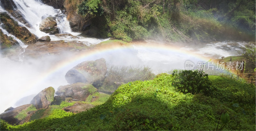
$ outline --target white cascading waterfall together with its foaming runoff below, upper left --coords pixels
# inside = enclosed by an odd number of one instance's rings
[[[31,33],[35,34],[38,38],[42,36],[50,36],[52,40],[63,40],[63,37],[56,37],[49,35],[39,30],[40,22],[46,17],[56,17],[57,27],[61,34],[72,34],[74,36],[80,35],[81,33],[72,32],[67,17],[62,14],[60,9],[54,9],[52,6],[48,6],[42,3],[41,0],[15,0],[13,1],[17,6],[17,9],[21,12],[22,17],[28,22],[29,27],[21,22],[20,25],[25,26]],[[1,8],[2,10],[2,8]],[[4,10],[3,10],[4,11]],[[8,12],[7,12],[8,13]],[[9,14],[9,13],[8,13]],[[13,17],[12,17],[13,18]],[[15,19],[15,18],[14,18]],[[80,41],[85,45],[95,45],[108,39],[96,39],[96,38],[85,38],[77,37],[76,39],[67,39],[65,41]]]

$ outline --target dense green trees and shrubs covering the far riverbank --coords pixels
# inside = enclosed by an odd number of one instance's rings
[[[255,41],[255,0],[66,0],[64,7],[91,21],[100,37]],[[75,11],[77,9],[77,11]]]

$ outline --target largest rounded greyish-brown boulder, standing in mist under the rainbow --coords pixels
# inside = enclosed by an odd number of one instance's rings
[[[107,73],[106,60],[104,58],[95,61],[84,61],[70,69],[65,78],[68,83],[89,83],[98,86]]]

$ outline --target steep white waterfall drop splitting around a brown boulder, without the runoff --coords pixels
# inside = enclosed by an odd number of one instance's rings
[[[51,16],[56,17],[56,23],[60,33],[72,32],[67,17],[63,14],[58,15],[59,9],[54,9],[52,6],[42,3],[41,0],[14,0],[13,2],[17,6],[16,10],[21,12],[22,17],[30,25],[30,27],[24,24],[23,26],[28,28],[28,30],[38,38],[49,35],[39,30],[39,24],[44,18]]]

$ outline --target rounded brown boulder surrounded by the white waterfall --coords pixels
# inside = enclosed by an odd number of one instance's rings
[[[55,17],[44,18],[39,24],[39,30],[52,35],[59,33]]]

